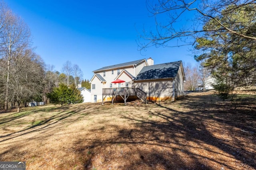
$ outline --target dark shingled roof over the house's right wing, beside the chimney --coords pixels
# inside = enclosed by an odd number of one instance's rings
[[[178,73],[178,69],[181,63],[182,61],[176,61],[172,63],[144,66],[139,72],[136,80],[174,78]]]

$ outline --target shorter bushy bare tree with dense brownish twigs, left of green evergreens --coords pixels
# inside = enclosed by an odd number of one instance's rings
[[[12,64],[9,83],[11,100],[20,111],[21,104],[42,100],[44,62],[31,49],[19,53]]]

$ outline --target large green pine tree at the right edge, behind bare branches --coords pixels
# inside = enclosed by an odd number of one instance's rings
[[[206,61],[205,66],[211,68],[217,82],[228,86],[253,85],[256,83],[256,41],[228,32],[224,34],[222,25],[233,27],[240,34],[255,37],[256,24],[249,24],[256,15],[255,4],[234,8],[228,6],[222,11],[222,17],[218,19],[220,23],[211,19],[204,25],[204,30],[212,31],[196,39],[195,48],[202,54],[195,59]]]

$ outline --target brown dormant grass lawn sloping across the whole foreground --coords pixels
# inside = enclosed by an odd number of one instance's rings
[[[256,169],[256,100],[76,104],[0,114],[0,161],[27,170]]]

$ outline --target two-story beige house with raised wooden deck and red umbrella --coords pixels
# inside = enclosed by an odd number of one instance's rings
[[[154,65],[154,60],[141,59],[94,70],[91,102],[139,98],[144,100],[175,100],[184,94],[182,61]],[[118,99],[119,98],[119,99]],[[135,99],[134,98],[134,99]]]

